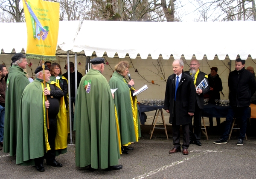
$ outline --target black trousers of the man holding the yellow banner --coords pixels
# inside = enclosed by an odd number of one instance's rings
[[[34,159],[35,165],[43,165],[44,158],[46,159],[47,163],[52,163],[55,161],[55,138],[57,134],[57,118],[49,116],[49,129],[47,129],[48,133],[48,142],[50,145],[51,150],[47,151],[44,156]]]

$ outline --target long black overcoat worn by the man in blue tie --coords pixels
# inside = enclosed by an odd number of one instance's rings
[[[175,101],[175,114],[174,119],[174,97],[175,97],[175,78],[176,75],[172,74],[168,77],[166,84],[166,93],[164,100],[164,109],[169,109],[170,118],[169,123],[175,120],[176,125],[189,124],[191,116],[189,112],[195,112],[195,85],[193,79],[182,72],[181,79],[178,85]]]

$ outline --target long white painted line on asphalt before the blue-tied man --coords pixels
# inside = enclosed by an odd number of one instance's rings
[[[161,167],[161,168],[157,168],[156,170],[153,170],[153,171],[151,171],[151,172],[149,172],[149,173],[145,173],[145,174],[143,174],[143,175],[141,175],[141,176],[137,176],[137,177],[135,177],[135,178],[133,178],[133,179],[143,179],[143,178],[145,178],[145,177],[154,175],[154,174],[156,174],[156,173],[158,173],[158,172],[160,172],[160,171],[162,171],[162,170],[165,170],[165,169],[167,169],[167,168],[170,168],[170,167],[172,167],[172,166],[174,166],[174,165],[178,165],[178,164],[180,164],[180,163],[183,163],[183,162],[185,162],[186,160],[190,160],[190,159],[194,158],[195,156],[200,156],[200,155],[202,155],[202,154],[204,154],[204,153],[220,152],[220,151],[189,151],[189,152],[199,152],[199,153],[195,153],[194,155],[189,156],[189,157],[186,158],[186,159],[179,160],[179,161],[177,161],[177,162],[173,162],[173,163],[171,163],[171,164],[169,164],[169,165],[165,165],[165,166],[163,166],[163,167]]]

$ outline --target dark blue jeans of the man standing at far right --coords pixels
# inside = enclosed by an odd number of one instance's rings
[[[227,112],[226,117],[226,125],[223,134],[221,135],[221,138],[224,140],[228,139],[228,136],[230,134],[230,129],[232,126],[233,118],[234,116],[236,119],[241,120],[239,128],[240,128],[240,136],[239,139],[244,140],[245,133],[246,133],[246,125],[247,125],[247,113],[248,113],[249,107],[230,107]],[[237,122],[239,122],[237,120]]]

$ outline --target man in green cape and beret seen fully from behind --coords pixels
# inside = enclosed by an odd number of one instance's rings
[[[76,166],[119,170],[120,138],[113,96],[102,75],[105,59],[96,57],[91,64],[93,69],[82,77],[76,96]]]

